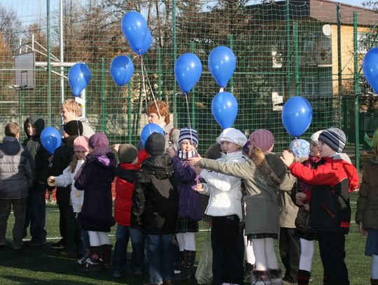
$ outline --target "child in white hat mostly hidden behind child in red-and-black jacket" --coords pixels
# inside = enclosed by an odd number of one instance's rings
[[[309,168],[316,168],[321,165],[321,155],[319,152],[319,134],[322,131],[311,135],[309,145],[309,158],[302,164]],[[300,181],[297,187],[296,196],[299,198],[296,204],[299,206],[295,226],[297,237],[300,239],[300,263],[298,267],[297,283],[299,285],[309,284],[311,275],[312,258],[314,257],[314,240],[318,239],[316,231],[309,229],[309,201],[311,200],[311,186]],[[306,197],[307,201],[302,202],[301,197]]]

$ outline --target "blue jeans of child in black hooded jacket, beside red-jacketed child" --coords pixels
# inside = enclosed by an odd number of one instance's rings
[[[160,284],[172,280],[174,258],[172,235],[146,235],[150,283]]]

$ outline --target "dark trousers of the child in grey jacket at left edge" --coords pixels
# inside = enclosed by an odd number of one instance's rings
[[[0,244],[6,245],[6,228],[8,226],[8,217],[10,207],[13,208],[15,224],[13,225],[13,245],[22,246],[22,237],[25,224],[25,213],[27,208],[27,198],[21,199],[0,199]]]

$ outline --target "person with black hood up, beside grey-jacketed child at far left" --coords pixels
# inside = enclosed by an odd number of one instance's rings
[[[30,225],[31,241],[26,242],[29,246],[39,246],[46,242],[45,219],[46,219],[46,179],[48,177],[50,153],[41,145],[41,132],[45,128],[45,121],[41,116],[29,116],[24,123],[27,139],[22,145],[31,153],[36,165],[36,177],[34,184],[29,188],[27,197],[27,214],[25,217],[24,237],[27,236],[27,228]]]

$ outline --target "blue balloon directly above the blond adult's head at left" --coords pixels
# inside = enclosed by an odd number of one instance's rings
[[[78,97],[80,92],[87,87],[90,82],[90,69],[83,63],[76,63],[69,69],[69,85],[73,96]]]

